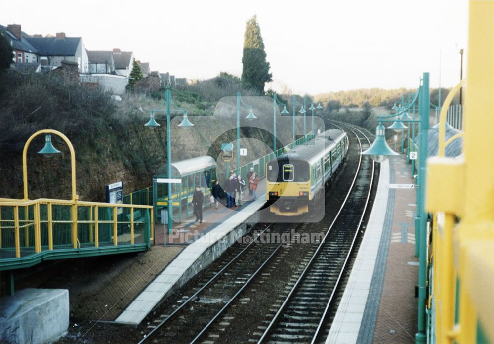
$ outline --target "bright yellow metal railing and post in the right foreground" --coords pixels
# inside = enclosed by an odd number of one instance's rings
[[[437,343],[494,342],[494,1],[469,8],[464,158],[444,157],[453,138],[441,114],[439,156],[428,160]]]

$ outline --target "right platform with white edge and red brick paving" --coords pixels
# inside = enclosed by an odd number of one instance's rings
[[[381,163],[379,184],[359,253],[326,343],[414,343],[417,332],[415,285],[415,189],[404,157]]]

